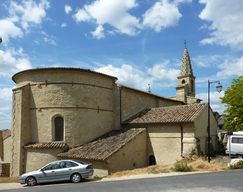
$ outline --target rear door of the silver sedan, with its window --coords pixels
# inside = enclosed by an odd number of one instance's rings
[[[61,161],[59,169],[56,170],[56,179],[58,181],[70,180],[73,164],[70,161]]]

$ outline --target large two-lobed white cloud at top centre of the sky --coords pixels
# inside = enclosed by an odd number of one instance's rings
[[[182,17],[178,10],[179,4],[192,2],[192,0],[157,1],[142,15],[142,23],[138,17],[129,13],[139,6],[138,2],[136,0],[96,0],[77,9],[72,17],[77,23],[90,22],[103,27],[104,24],[109,24],[115,28],[108,30],[108,34],[111,35],[122,33],[135,36],[145,27],[160,32],[163,28],[177,25]]]

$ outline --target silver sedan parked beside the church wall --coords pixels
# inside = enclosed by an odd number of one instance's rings
[[[37,183],[72,181],[79,183],[82,179],[93,175],[93,166],[77,160],[54,161],[37,171],[21,175],[21,184],[34,186]]]

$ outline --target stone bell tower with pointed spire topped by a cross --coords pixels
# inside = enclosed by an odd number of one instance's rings
[[[178,78],[178,86],[176,87],[176,99],[188,103],[187,102],[188,96],[195,97],[196,77],[193,76],[191,60],[186,48],[186,40],[185,40],[185,50],[181,62],[181,72],[180,72],[180,76],[177,78]]]

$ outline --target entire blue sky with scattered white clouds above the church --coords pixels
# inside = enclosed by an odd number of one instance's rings
[[[196,96],[222,113],[243,75],[242,0],[1,0],[0,129],[11,129],[11,77],[37,67],[78,67],[162,96],[176,94],[185,49]]]

